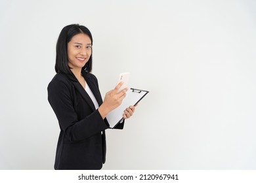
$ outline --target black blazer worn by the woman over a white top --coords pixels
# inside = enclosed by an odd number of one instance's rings
[[[82,71],[100,106],[95,75]],[[48,100],[60,125],[54,169],[101,169],[106,160],[105,129],[91,98],[73,74],[57,73],[49,83]],[[123,129],[123,123],[116,128]]]

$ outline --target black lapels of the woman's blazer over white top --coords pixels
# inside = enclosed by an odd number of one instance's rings
[[[92,75],[90,75],[89,73],[87,73],[86,71],[83,71],[83,70],[82,70],[81,74],[85,78],[86,83],[91,88],[91,91],[93,92],[93,95],[95,95],[95,99],[98,102],[98,105],[100,106],[102,104],[102,97],[101,97],[100,92],[98,90],[97,84],[93,81],[93,78],[91,78]],[[91,97],[88,95],[87,92],[85,92],[85,88],[83,88],[83,86],[81,86],[81,84],[78,82],[77,78],[75,78],[75,75],[73,73],[68,74],[68,78],[70,78],[70,80],[74,84],[75,88],[81,94],[83,99],[85,99],[85,101],[88,103],[88,105],[93,110],[96,110],[95,105],[93,104],[93,101],[91,100]]]

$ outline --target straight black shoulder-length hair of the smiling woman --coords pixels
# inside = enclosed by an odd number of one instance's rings
[[[70,67],[68,67],[68,42],[79,33],[84,33],[88,35],[91,39],[91,44],[93,45],[93,37],[91,32],[87,27],[79,24],[71,24],[67,25],[62,29],[60,35],[58,37],[58,41],[56,44],[56,63],[55,63],[55,71],[56,73],[67,73],[70,74]],[[91,52],[91,57],[83,66],[83,70],[87,71],[88,73],[91,72],[93,67],[93,50]]]

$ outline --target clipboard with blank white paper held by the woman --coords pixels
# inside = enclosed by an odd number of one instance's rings
[[[108,121],[108,124],[110,124],[110,128],[113,129],[117,124],[123,121],[123,111],[125,108],[130,105],[137,105],[137,103],[139,103],[146,94],[148,94],[148,91],[130,88],[126,92],[126,96],[121,105],[106,115],[106,120]]]

